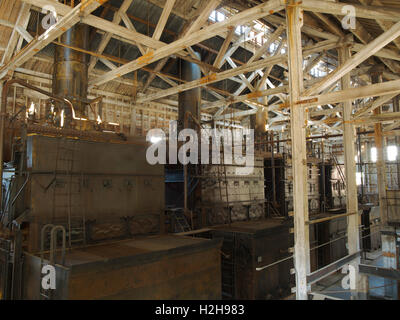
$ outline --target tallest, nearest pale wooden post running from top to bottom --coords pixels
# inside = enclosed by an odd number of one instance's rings
[[[306,122],[304,110],[296,102],[303,91],[303,54],[301,1],[291,0],[286,8],[289,47],[290,124],[292,135],[294,265],[296,299],[308,299],[307,274],[310,273],[310,237],[307,195]]]

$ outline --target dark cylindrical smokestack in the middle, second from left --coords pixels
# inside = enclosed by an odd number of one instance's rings
[[[196,52],[199,59],[201,56]],[[193,81],[201,78],[201,70],[197,64],[180,60],[181,66],[181,79],[185,81]],[[200,121],[200,106],[201,106],[201,88],[195,88],[179,93],[179,117],[178,117],[178,128],[183,129],[184,118],[187,111],[191,113],[193,118]],[[192,117],[188,118],[187,127],[196,129],[197,126],[193,121]]]

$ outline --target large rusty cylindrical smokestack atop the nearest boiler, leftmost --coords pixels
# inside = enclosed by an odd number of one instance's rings
[[[88,49],[89,29],[77,24],[61,36],[61,42]],[[74,105],[76,117],[85,116],[88,91],[88,56],[67,47],[57,46],[54,54],[53,94],[63,96]],[[65,109],[66,118],[71,118]]]

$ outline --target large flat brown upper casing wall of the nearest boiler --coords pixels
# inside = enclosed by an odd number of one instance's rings
[[[43,225],[67,226],[69,217],[84,220],[89,243],[163,232],[164,168],[147,163],[145,147],[34,135],[27,156],[20,201],[29,208],[29,252]]]

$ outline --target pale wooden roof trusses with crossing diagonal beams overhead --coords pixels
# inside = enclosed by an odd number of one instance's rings
[[[150,94],[150,95],[138,95],[137,103],[145,103],[151,101],[158,101],[162,98],[175,95],[182,90],[189,90],[195,87],[205,87],[210,93],[215,96],[218,101],[213,103],[207,102],[204,104],[204,107],[211,112],[215,112],[215,117],[223,116],[224,112],[228,111],[229,105],[233,105],[236,102],[242,102],[247,104],[250,109],[246,113],[243,110],[237,111],[237,117],[241,117],[242,115],[248,115],[252,112],[256,112],[257,99],[260,96],[263,96],[266,92],[272,92],[274,96],[280,98],[281,102],[287,102],[287,97],[285,97],[285,85],[288,83],[288,79],[280,79],[281,83],[279,86],[282,86],[282,91],[277,89],[277,93],[271,89],[275,89],[276,85],[272,84],[269,77],[271,74],[272,68],[274,66],[280,66],[286,70],[288,70],[288,56],[286,53],[276,52],[275,56],[271,56],[268,51],[276,41],[280,42],[280,46],[278,48],[281,51],[282,49],[287,52],[285,49],[285,33],[282,34],[282,31],[287,28],[287,21],[282,19],[282,13],[284,9],[287,8],[288,1],[287,0],[269,0],[265,3],[257,5],[253,8],[243,10],[236,14],[226,17],[225,20],[208,24],[207,19],[212,10],[221,4],[220,0],[209,1],[205,5],[204,8],[199,8],[197,14],[195,15],[195,19],[192,22],[188,22],[188,25],[184,28],[183,33],[178,37],[177,40],[171,43],[164,43],[160,41],[161,35],[164,32],[166,22],[171,12],[173,12],[173,8],[175,5],[175,1],[167,0],[161,12],[161,16],[159,17],[159,21],[155,26],[155,30],[153,35],[150,37],[148,35],[141,34],[136,31],[135,27],[132,24],[132,21],[126,14],[127,9],[134,5],[134,1],[132,0],[124,0],[122,2],[121,7],[114,13],[114,18],[112,21],[105,20],[98,16],[92,14],[92,12],[99,7],[102,3],[106,1],[96,1],[96,0],[86,0],[83,1],[81,5],[71,8],[67,5],[64,5],[56,0],[22,0],[25,5],[25,11],[23,8],[21,9],[21,17],[17,21],[15,25],[15,33],[20,35],[20,44],[22,44],[22,39],[28,41],[28,45],[23,47],[19,52],[15,52],[14,56],[6,61],[6,63],[0,69],[0,75],[4,77],[7,73],[12,72],[15,68],[23,65],[27,60],[29,60],[32,56],[34,56],[38,51],[52,42],[55,38],[57,38],[60,34],[65,32],[65,30],[71,27],[73,24],[81,21],[86,23],[92,27],[97,28],[101,32],[103,32],[102,39],[99,45],[99,48],[96,52],[97,55],[101,55],[109,43],[111,38],[116,38],[118,40],[127,42],[131,45],[138,47],[141,52],[141,56],[136,60],[126,62],[121,66],[116,66],[112,61],[108,61],[106,58],[92,55],[91,63],[90,63],[90,71],[93,70],[93,67],[96,63],[96,60],[102,61],[106,66],[110,68],[109,72],[106,72],[102,75],[91,76],[90,86],[98,87],[102,84],[115,80],[117,78],[123,77],[124,75],[137,71],[139,69],[148,69],[146,66],[149,64],[159,61],[156,69],[151,76],[149,77],[144,88],[147,88],[152,79],[155,76],[159,76],[163,81],[167,82],[171,88],[166,90],[161,90],[159,92]],[[329,91],[337,90],[336,83],[339,81],[344,75],[349,72],[354,72],[354,70],[358,70],[357,67],[364,63],[371,56],[376,56],[378,59],[382,59],[382,61],[388,66],[388,72],[393,72],[396,70],[400,70],[399,61],[400,54],[398,52],[398,48],[394,48],[393,46],[387,47],[388,44],[393,42],[396,46],[400,44],[397,37],[400,34],[400,10],[388,8],[380,6],[369,6],[366,1],[359,1],[360,4],[353,5],[356,18],[364,18],[364,19],[374,19],[379,25],[382,27],[384,33],[379,36],[377,39],[372,39],[370,35],[363,36],[360,33],[353,32],[358,39],[361,39],[362,43],[352,42],[351,51],[355,52],[355,55],[349,59],[345,63],[333,72],[330,72],[326,75],[325,78],[310,78],[309,73],[318,68],[319,65],[324,64],[329,60],[331,54],[328,52],[332,52],[332,50],[339,50],[340,46],[344,43],[343,36],[348,33],[347,30],[342,30],[338,24],[333,23],[334,20],[330,19],[332,17],[341,19],[343,17],[343,9],[347,3],[337,3],[332,1],[315,1],[315,0],[305,0],[298,3],[298,6],[304,10],[304,14],[307,15],[309,12],[313,12],[316,17],[322,21],[327,27],[327,31],[316,30],[310,25],[303,25],[301,31],[303,35],[307,39],[322,39],[322,41],[315,43],[315,50],[308,50],[303,52],[303,58],[310,58],[309,64],[304,68],[304,77],[309,81],[305,83],[305,91],[302,95],[302,102],[304,104],[304,100],[311,99],[310,96],[322,93],[328,94]],[[376,2],[375,2],[376,3]],[[32,38],[29,33],[23,28],[24,22],[26,20],[26,8],[31,6],[43,8],[45,6],[53,6],[58,15],[62,16],[62,19],[58,21],[58,23],[48,30],[45,34],[41,35],[38,38]],[[81,7],[84,9],[82,10]],[[286,10],[287,11],[287,10]],[[279,12],[277,15],[276,13]],[[29,16],[28,16],[29,17]],[[25,20],[24,20],[25,19]],[[262,45],[254,44],[254,37],[257,37],[259,34],[253,32],[253,36],[249,37],[248,31],[250,29],[246,29],[247,31],[238,36],[235,34],[235,30],[238,26],[247,25],[252,26],[254,23],[257,23],[257,19],[266,20],[268,23],[272,25],[276,25],[276,31],[271,32],[269,35],[266,35],[266,41]],[[21,24],[22,23],[22,24]],[[123,23],[123,25],[120,25]],[[26,25],[26,22],[25,22]],[[362,28],[360,26],[360,28]],[[254,30],[254,29],[252,29]],[[350,30],[351,31],[351,30]],[[363,34],[365,34],[365,30],[363,30]],[[223,36],[225,41],[218,52],[214,63],[212,65],[207,65],[204,62],[195,61],[195,56],[193,56],[193,50],[191,46],[200,44],[202,41],[213,38],[215,36]],[[18,38],[18,37],[17,37]],[[280,40],[279,40],[280,39]],[[325,41],[324,41],[325,40]],[[368,40],[368,41],[366,41]],[[312,41],[312,40],[311,40]],[[242,65],[238,65],[231,59],[232,54],[239,47],[243,47],[243,45],[251,43],[254,47],[253,56],[250,58],[247,63]],[[19,47],[17,47],[18,49]],[[12,55],[10,50],[6,52],[8,56]],[[185,59],[192,59],[194,62],[198,63],[202,67],[202,71],[204,77],[198,81],[194,81],[191,83],[183,83],[173,81],[170,78],[166,78],[165,76],[160,74],[160,70],[168,61],[168,58],[179,56]],[[3,59],[4,60],[4,59]],[[223,64],[228,66],[228,69],[225,68],[225,71],[217,71],[222,67]],[[230,69],[229,69],[230,67]],[[259,78],[261,77],[261,81]],[[362,82],[363,74],[358,74],[353,77],[354,82]],[[216,83],[222,80],[229,79],[231,81],[235,81],[241,84],[236,92],[231,93],[231,96],[228,98],[225,96],[221,96],[220,93],[210,89],[208,86],[211,83]],[[276,79],[274,79],[276,80]],[[310,81],[311,80],[311,81]],[[320,81],[319,81],[320,80]],[[393,80],[393,79],[391,79]],[[260,90],[261,84],[266,83],[267,88],[269,90]],[[278,88],[279,88],[278,86]],[[329,91],[325,92],[324,90],[328,89]],[[249,90],[250,94],[246,96],[240,96],[244,90]],[[262,92],[263,91],[263,92]],[[324,92],[321,92],[324,91]],[[390,92],[388,94],[391,94]],[[392,93],[393,94],[393,93]],[[367,97],[365,97],[367,98]],[[286,100],[286,101],[283,101]],[[381,99],[382,100],[382,99]],[[313,100],[315,101],[315,99]],[[323,101],[323,100],[322,100]],[[334,105],[339,103],[340,101],[330,101],[327,104],[323,104],[322,102],[317,105],[318,110],[313,111],[311,115],[317,116],[318,114],[323,115],[323,119],[329,119],[330,111],[334,110]],[[371,110],[364,110],[363,114],[368,114],[368,112],[372,111],[376,108],[376,103],[374,106],[371,106]],[[307,105],[306,106],[311,106]],[[329,109],[324,111],[325,106],[328,106]],[[379,107],[379,106],[378,106]],[[234,107],[232,107],[234,110]],[[281,110],[270,106],[270,110],[273,110],[275,114],[278,116],[281,114]],[[232,110],[232,109],[231,109]],[[288,111],[288,110],[286,110]],[[230,115],[235,116],[234,112],[229,112]],[[332,111],[333,114],[333,111]],[[319,120],[321,121],[321,119]],[[331,120],[329,120],[331,121]],[[315,122],[315,123],[318,123]],[[333,123],[331,126],[336,127],[336,124]]]

